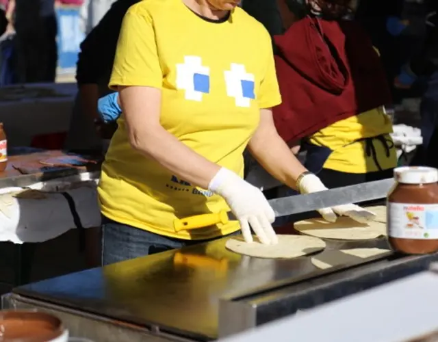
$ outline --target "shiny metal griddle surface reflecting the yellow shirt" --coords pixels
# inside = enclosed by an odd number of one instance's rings
[[[219,239],[90,269],[19,287],[14,292],[127,323],[158,326],[164,332],[208,340],[218,335],[220,298],[248,295],[328,272],[315,268],[312,256],[242,257],[227,250],[226,241],[227,238]],[[337,241],[328,245],[333,247],[346,248]],[[360,262],[363,261],[357,261]]]

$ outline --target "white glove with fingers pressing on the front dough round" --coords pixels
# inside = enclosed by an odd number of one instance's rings
[[[274,210],[257,187],[250,185],[231,170],[221,168],[211,179],[208,188],[227,202],[240,222],[246,242],[253,242],[250,227],[262,244],[278,242],[271,225],[275,220]]]

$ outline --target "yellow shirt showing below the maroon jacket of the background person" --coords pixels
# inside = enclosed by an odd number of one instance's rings
[[[373,156],[367,155],[366,142],[363,141],[367,137],[384,136],[389,147],[389,155],[383,143],[374,139],[372,144],[376,151],[376,159],[382,170],[396,167],[397,155],[389,135],[391,132],[391,119],[385,114],[383,107],[379,107],[335,122],[313,134],[309,141],[333,150],[324,163],[324,168],[361,174],[379,171]]]

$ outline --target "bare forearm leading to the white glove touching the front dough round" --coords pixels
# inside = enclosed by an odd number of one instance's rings
[[[175,176],[203,189],[208,188],[211,179],[220,170],[216,163],[198,155],[162,127],[150,129],[142,138],[131,144],[133,148],[154,159]]]

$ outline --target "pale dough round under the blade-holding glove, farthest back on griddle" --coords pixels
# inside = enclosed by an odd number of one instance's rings
[[[323,218],[299,221],[294,223],[294,228],[302,234],[322,239],[365,240],[386,236],[386,207],[381,205],[366,209],[375,213],[376,218],[365,224],[341,216],[336,222],[327,222]]]

